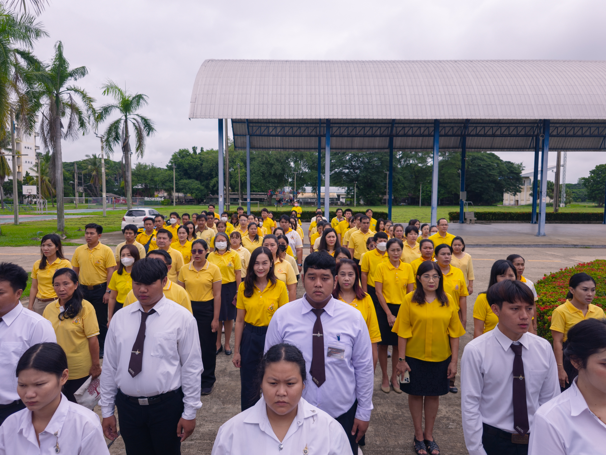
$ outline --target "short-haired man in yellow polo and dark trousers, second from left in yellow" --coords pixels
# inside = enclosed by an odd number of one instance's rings
[[[99,324],[99,357],[103,357],[105,335],[107,335],[107,303],[110,301],[110,289],[107,286],[112,280],[116,268],[116,258],[107,245],[99,242],[103,226],[88,223],[84,226],[85,245],[76,248],[72,257],[73,271],[79,275],[78,280],[84,291],[84,299],[95,307]],[[107,292],[106,292],[107,291]]]

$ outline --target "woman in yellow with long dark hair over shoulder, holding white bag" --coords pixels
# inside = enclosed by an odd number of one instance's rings
[[[79,284],[78,275],[72,269],[56,271],[53,286],[59,298],[49,303],[43,314],[53,325],[57,343],[67,355],[69,376],[63,393],[74,403],[74,392],[86,382],[88,376],[94,378],[101,374],[97,315],[93,305],[82,298]]]

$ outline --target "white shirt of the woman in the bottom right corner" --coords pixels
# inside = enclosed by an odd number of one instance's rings
[[[530,428],[528,455],[581,455],[606,451],[606,423],[596,417],[574,378],[570,388],[542,405]]]

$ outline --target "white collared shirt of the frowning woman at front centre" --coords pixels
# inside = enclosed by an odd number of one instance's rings
[[[276,437],[261,399],[255,406],[227,420],[215,439],[211,455],[302,454],[351,455],[351,446],[341,423],[301,398],[297,415],[282,439]]]

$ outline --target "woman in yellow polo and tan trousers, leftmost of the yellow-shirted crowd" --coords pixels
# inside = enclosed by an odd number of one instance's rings
[[[72,263],[65,259],[61,237],[57,234],[47,234],[42,237],[40,251],[41,258],[32,268],[32,288],[27,308],[42,315],[44,308],[57,298],[53,288],[53,275],[58,269],[65,267],[71,269]]]

